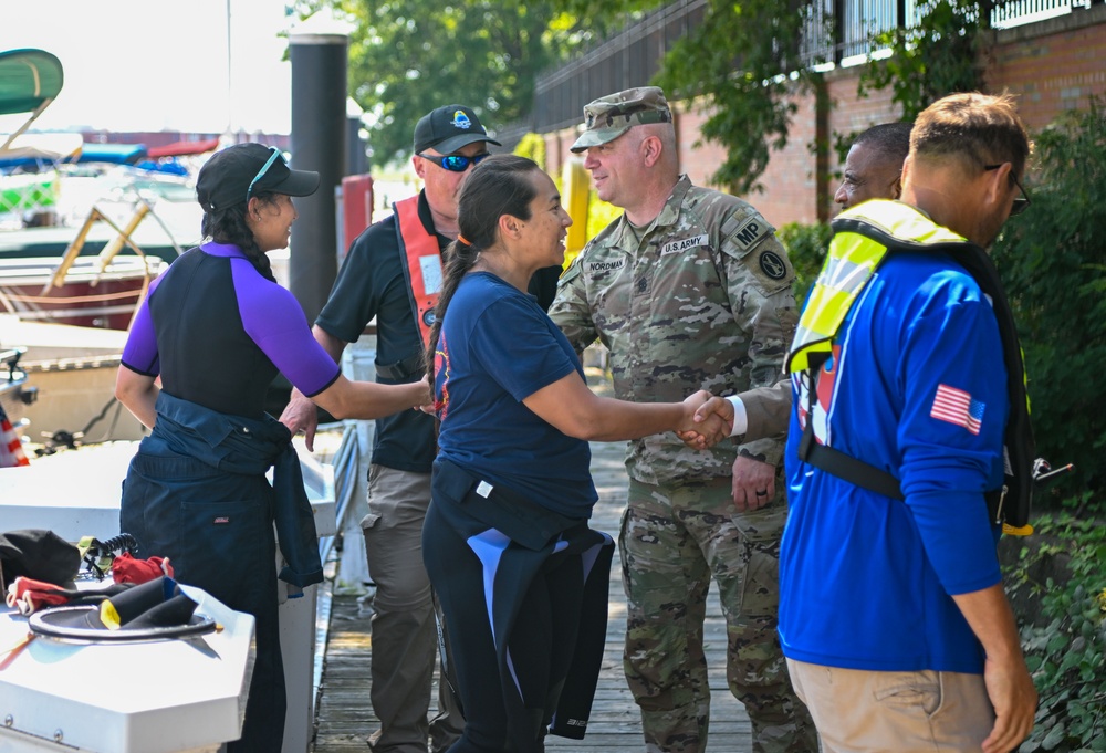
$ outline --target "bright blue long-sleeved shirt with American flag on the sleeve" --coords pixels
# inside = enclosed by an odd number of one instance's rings
[[[795,384],[780,638],[800,661],[980,673],[950,595],[1000,581],[983,492],[1002,483],[1006,373],[991,306],[948,257],[896,252],[860,293],[818,378]],[[797,459],[803,427],[887,471],[905,501]]]

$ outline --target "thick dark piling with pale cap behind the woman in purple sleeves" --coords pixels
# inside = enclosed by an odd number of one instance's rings
[[[322,311],[337,274],[334,191],[346,170],[348,38],[292,32],[292,166],[319,171],[319,190],[295,199],[289,289],[309,322]]]

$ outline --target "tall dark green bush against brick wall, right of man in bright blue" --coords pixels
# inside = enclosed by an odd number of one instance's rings
[[[1014,308],[1039,452],[1106,492],[1106,112],[1092,102],[1039,134],[1032,205],[992,249]],[[1070,488],[1070,487],[1068,487]],[[1063,489],[1063,487],[1062,487]],[[1102,502],[1098,511],[1103,512]]]

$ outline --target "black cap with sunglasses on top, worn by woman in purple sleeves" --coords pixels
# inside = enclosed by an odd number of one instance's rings
[[[273,158],[274,151],[275,158]],[[273,158],[272,161],[270,158]],[[276,147],[254,143],[233,144],[215,153],[200,168],[196,178],[196,198],[204,207],[204,211],[216,211],[237,203],[246,203],[247,195],[250,192],[257,195],[272,191],[285,196],[311,196],[317,188],[317,172],[293,170]]]

